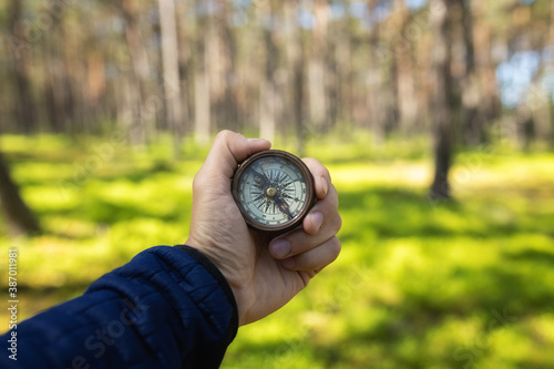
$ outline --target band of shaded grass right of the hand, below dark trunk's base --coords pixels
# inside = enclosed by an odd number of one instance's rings
[[[368,229],[378,237],[495,237],[520,232],[512,216],[489,215],[493,211],[511,214],[509,207],[494,203],[433,202],[423,192],[389,187],[341,192],[339,199],[347,238],[358,238],[358,232]]]

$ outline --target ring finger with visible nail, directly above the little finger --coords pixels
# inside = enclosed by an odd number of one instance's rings
[[[269,244],[269,253],[277,259],[285,259],[309,252],[335,237],[341,225],[342,219],[340,215],[335,213],[332,219],[328,222],[317,235],[309,235],[301,228],[297,228],[285,236],[273,239]]]

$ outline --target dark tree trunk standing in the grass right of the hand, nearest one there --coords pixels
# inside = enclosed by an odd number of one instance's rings
[[[452,157],[451,107],[453,92],[451,83],[451,40],[449,27],[449,0],[430,2],[431,25],[434,35],[433,69],[435,85],[433,91],[434,125],[434,180],[430,189],[433,199],[450,198],[449,171]]]

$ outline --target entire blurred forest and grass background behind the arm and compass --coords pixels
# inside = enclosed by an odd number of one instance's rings
[[[329,167],[343,250],[223,368],[554,366],[554,2],[7,0],[0,27],[20,319],[183,243],[230,129]]]

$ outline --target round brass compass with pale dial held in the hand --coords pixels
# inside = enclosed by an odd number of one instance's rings
[[[314,177],[306,164],[280,150],[263,151],[244,161],[232,191],[246,224],[269,234],[299,226],[316,202]]]

